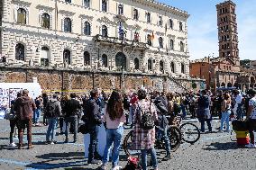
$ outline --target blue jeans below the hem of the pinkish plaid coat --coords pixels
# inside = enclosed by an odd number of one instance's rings
[[[147,170],[147,154],[151,154],[152,166],[158,167],[158,160],[155,148],[142,149],[142,170]]]

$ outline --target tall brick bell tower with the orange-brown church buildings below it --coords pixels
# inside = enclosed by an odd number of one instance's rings
[[[190,76],[206,78],[207,88],[240,87],[241,75],[235,7],[231,0],[217,4],[219,57],[190,63]],[[203,77],[202,77],[203,76]]]

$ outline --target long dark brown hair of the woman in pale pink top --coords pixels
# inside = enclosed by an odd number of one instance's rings
[[[106,106],[106,112],[109,114],[111,121],[123,116],[123,97],[117,90],[112,92]]]

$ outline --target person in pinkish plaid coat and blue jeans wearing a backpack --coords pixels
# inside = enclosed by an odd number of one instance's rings
[[[141,127],[141,114],[142,112],[151,112],[154,120],[158,120],[158,114],[156,112],[155,105],[150,101],[146,100],[146,92],[139,90],[138,99],[135,112],[134,112],[134,132],[133,132],[133,149],[141,150],[142,152],[142,170],[147,169],[147,154],[151,154],[151,162],[154,170],[158,170],[158,161],[156,151],[154,148],[155,144],[155,128],[151,130],[143,130]],[[142,112],[141,112],[142,110]],[[142,138],[143,137],[143,138]]]

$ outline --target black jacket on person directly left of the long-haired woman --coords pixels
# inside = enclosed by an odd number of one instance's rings
[[[85,115],[83,116],[82,121],[87,121],[91,126],[100,125],[102,123],[100,107],[95,99],[87,100]]]

